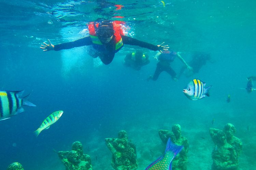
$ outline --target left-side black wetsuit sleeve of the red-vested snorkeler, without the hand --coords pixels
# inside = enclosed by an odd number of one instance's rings
[[[77,39],[75,41],[71,41],[68,43],[54,45],[54,50],[59,51],[59,50],[71,49],[75,47],[89,46],[89,45],[93,45],[93,41],[91,41],[91,38],[87,36],[87,37]]]

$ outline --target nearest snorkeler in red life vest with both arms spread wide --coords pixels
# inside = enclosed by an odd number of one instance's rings
[[[122,21],[90,22],[88,24],[89,36],[57,45],[51,44],[50,40],[48,40],[49,44],[43,43],[40,48],[43,49],[43,51],[59,51],[81,46],[93,46],[97,52],[90,52],[90,55],[92,55],[94,58],[99,56],[100,60],[105,65],[108,65],[112,62],[115,53],[118,52],[124,44],[140,46],[153,51],[158,50],[160,52],[169,49],[168,45],[162,46],[163,43],[160,45],[153,45],[144,41],[137,40],[135,38],[125,36],[121,28],[121,24],[123,23],[124,22]]]

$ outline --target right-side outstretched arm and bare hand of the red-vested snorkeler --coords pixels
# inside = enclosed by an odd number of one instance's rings
[[[168,50],[169,47],[168,45],[163,46],[163,43],[160,45],[153,45],[150,43],[146,43],[144,41],[140,41],[138,39],[132,38],[132,37],[128,37],[125,35],[122,35],[122,40],[124,44],[128,44],[128,45],[133,45],[133,46],[140,46],[142,48],[147,48],[153,51],[160,51],[162,52],[162,50]]]

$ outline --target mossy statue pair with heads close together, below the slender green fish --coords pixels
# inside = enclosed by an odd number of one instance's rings
[[[58,155],[66,170],[93,170],[91,158],[83,154],[83,145],[79,141],[72,144],[72,151],[59,151]]]

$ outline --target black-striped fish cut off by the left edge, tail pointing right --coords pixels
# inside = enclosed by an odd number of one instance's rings
[[[18,115],[24,112],[22,106],[35,106],[33,103],[28,101],[29,95],[24,98],[22,91],[3,91],[0,90],[0,120],[11,118],[11,116]]]

